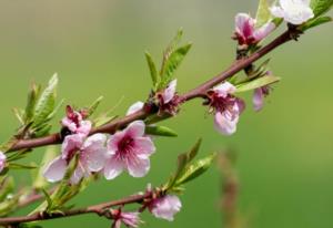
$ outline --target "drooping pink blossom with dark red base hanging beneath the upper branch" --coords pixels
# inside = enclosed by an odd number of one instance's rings
[[[233,95],[234,85],[224,82],[209,92],[209,105],[215,112],[215,128],[223,135],[232,135],[236,131],[239,116],[245,104]]]

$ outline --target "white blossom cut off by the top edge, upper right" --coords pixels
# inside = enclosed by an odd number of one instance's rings
[[[311,0],[280,0],[279,3],[280,6],[270,9],[271,13],[289,23],[299,25],[314,17],[310,7]]]

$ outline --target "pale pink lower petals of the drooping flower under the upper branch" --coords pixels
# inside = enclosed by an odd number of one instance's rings
[[[223,135],[232,135],[236,131],[239,115],[233,116],[230,112],[218,112],[214,118],[215,128]]]

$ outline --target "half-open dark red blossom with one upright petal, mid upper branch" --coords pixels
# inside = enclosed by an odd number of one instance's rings
[[[159,114],[167,112],[171,115],[178,113],[179,104],[181,103],[179,96],[175,93],[176,80],[169,83],[164,91],[157,94],[159,102]]]

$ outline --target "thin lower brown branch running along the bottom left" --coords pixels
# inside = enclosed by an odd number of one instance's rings
[[[0,218],[0,225],[7,225],[7,226],[17,225],[17,224],[28,222],[28,221],[50,220],[56,218],[64,218],[64,217],[84,215],[84,214],[97,214],[99,216],[103,216],[107,208],[141,203],[144,199],[151,197],[152,197],[152,193],[145,193],[144,195],[133,195],[122,199],[93,205],[85,208],[68,210],[63,213],[57,213],[57,214],[37,213],[29,216]]]

